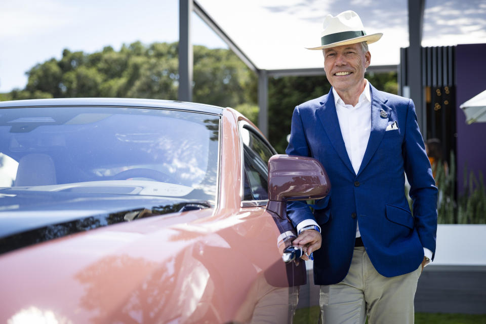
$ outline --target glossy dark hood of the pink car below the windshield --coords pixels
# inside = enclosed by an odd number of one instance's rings
[[[206,201],[173,197],[0,189],[0,253],[138,218],[210,207]]]

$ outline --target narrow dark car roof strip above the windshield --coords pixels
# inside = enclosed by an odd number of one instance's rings
[[[134,108],[166,108],[221,115],[222,107],[183,101],[135,98],[57,98],[0,101],[0,108],[49,106],[109,106]]]

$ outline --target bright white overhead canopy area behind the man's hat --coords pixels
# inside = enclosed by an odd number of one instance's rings
[[[204,11],[258,69],[322,67],[319,51],[323,17],[354,10],[367,33],[383,32],[370,45],[372,66],[397,65],[409,46],[406,0],[197,0]],[[482,0],[427,0],[422,46],[486,42],[486,3]],[[196,40],[193,40],[196,41]]]

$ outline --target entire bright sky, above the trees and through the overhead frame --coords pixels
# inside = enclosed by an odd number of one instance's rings
[[[322,67],[323,17],[353,9],[368,34],[373,65],[399,64],[408,47],[407,0],[197,0],[258,68]],[[63,49],[93,53],[141,41],[176,42],[179,0],[0,0],[0,93],[23,89],[25,72]],[[226,44],[192,14],[192,43]],[[484,0],[426,0],[422,46],[486,43]]]

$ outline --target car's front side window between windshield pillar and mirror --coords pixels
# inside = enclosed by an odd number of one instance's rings
[[[268,159],[272,149],[251,129],[241,128],[244,154],[243,200],[268,199]]]

